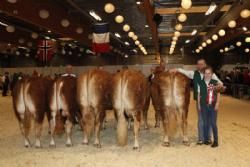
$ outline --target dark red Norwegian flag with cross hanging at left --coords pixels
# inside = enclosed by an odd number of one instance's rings
[[[43,39],[38,43],[37,58],[42,62],[49,62],[54,54],[54,42]]]

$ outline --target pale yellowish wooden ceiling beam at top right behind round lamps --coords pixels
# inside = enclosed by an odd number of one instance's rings
[[[220,11],[226,12],[230,9],[231,5],[224,5]],[[169,15],[176,14],[176,12],[180,13],[205,13],[208,10],[209,6],[192,6],[190,9],[183,8],[155,8],[155,13],[161,15]]]

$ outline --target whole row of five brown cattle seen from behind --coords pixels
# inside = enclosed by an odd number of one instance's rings
[[[25,77],[19,80],[13,90],[13,107],[19,121],[26,147],[30,147],[29,133],[31,119],[35,122],[35,146],[41,147],[41,130],[47,115],[51,130],[50,146],[55,146],[54,135],[63,122],[66,145],[72,146],[72,127],[77,119],[83,130],[83,144],[89,143],[94,132],[94,145],[101,146],[100,130],[105,111],[113,109],[117,120],[117,143],[127,144],[128,118],[134,120],[134,149],[139,148],[141,120],[147,124],[147,112],[152,99],[156,126],[162,120],[164,146],[169,146],[169,130],[177,117],[182,120],[183,142],[188,144],[187,113],[189,106],[189,79],[179,73],[161,72],[155,74],[149,83],[136,70],[125,69],[111,74],[101,69],[82,73],[79,78]],[[61,126],[62,127],[62,126]]]

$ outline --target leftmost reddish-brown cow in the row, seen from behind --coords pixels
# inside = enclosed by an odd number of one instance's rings
[[[48,89],[52,81],[45,77],[31,76],[18,80],[14,86],[12,100],[25,147],[31,147],[29,134],[31,120],[35,122],[35,147],[41,147],[41,132],[44,115],[48,108]]]

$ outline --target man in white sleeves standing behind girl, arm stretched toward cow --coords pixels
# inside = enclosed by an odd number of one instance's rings
[[[204,143],[204,130],[203,130],[204,122],[203,122],[202,115],[198,108],[198,103],[197,103],[198,85],[201,83],[204,77],[204,69],[206,68],[206,66],[207,64],[206,64],[205,59],[201,58],[197,60],[197,69],[195,71],[184,70],[181,68],[170,70],[170,72],[178,71],[193,80],[194,100],[196,101],[196,109],[198,112],[198,142],[197,142],[198,145],[202,145]],[[223,87],[223,83],[215,74],[212,75],[212,79],[218,81],[219,87]]]

